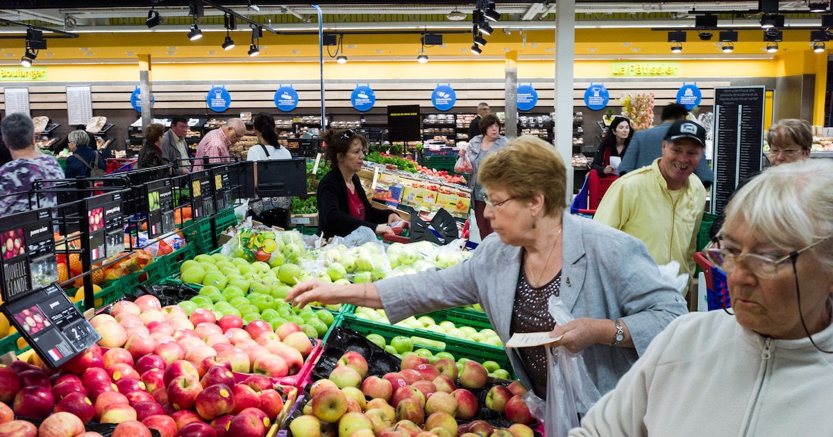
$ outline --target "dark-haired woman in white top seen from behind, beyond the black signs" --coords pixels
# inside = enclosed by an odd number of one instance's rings
[[[286,147],[282,147],[277,141],[275,132],[275,118],[272,114],[261,112],[254,117],[253,128],[257,135],[257,144],[249,149],[247,161],[269,161],[279,159],[292,159],[292,154]],[[257,181],[257,164],[255,165],[255,180]],[[258,221],[267,225],[288,226],[287,219],[279,220],[278,216],[286,216],[287,210],[292,204],[292,198],[287,196],[273,196],[257,199],[249,202],[252,213]],[[281,208],[277,210],[276,208]],[[275,210],[275,211],[272,211]],[[276,212],[281,212],[275,215]],[[266,212],[267,214],[264,214]]]

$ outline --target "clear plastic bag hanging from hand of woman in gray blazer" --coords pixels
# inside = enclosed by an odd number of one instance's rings
[[[564,302],[550,296],[550,314],[556,324],[563,325],[574,317]],[[586,413],[601,397],[590,378],[581,352],[572,354],[563,346],[546,348],[546,413],[544,430],[547,437],[564,437],[579,425],[578,414]]]

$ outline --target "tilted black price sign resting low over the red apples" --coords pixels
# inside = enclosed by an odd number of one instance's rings
[[[101,340],[57,282],[18,295],[0,310],[52,369]]]

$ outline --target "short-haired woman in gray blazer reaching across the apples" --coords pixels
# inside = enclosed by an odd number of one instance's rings
[[[566,170],[550,144],[520,137],[487,156],[477,176],[496,235],[468,261],[372,284],[308,281],[289,298],[383,307],[392,322],[479,302],[501,340],[515,332],[563,335],[554,345],[583,351],[598,390],[611,390],[654,336],[686,313],[682,296],[641,241],[565,211]],[[547,310],[553,295],[576,320],[555,325]],[[543,346],[507,352],[524,385],[546,398]]]

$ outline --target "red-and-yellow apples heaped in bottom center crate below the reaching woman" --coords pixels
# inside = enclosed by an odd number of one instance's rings
[[[431,365],[420,355],[402,358],[399,372],[382,377],[367,375],[367,360],[348,351],[338,360],[327,380],[312,384],[303,415],[292,420],[294,437],[532,437],[535,422],[521,395],[520,381],[508,387],[494,385],[485,406],[515,422],[508,430],[495,430],[483,420],[465,425],[478,413],[471,390],[486,386],[486,369],[468,361],[461,371],[449,359]],[[457,388],[458,380],[461,388]],[[369,400],[368,400],[369,399]]]

